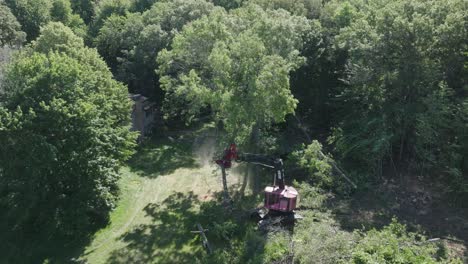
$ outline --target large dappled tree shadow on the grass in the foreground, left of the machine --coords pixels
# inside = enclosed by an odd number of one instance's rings
[[[126,246],[112,252],[107,263],[220,263],[216,252],[232,250],[231,243],[243,243],[255,226],[240,213],[228,213],[221,197],[216,193],[213,200],[201,202],[191,192],[173,193],[160,204],[148,204],[143,209],[148,224],[123,234],[120,239]],[[206,253],[199,236],[191,232],[197,230],[197,223],[208,229],[213,255]],[[223,232],[220,226],[225,226]],[[245,243],[241,259],[248,261],[263,252],[264,240],[257,240]]]

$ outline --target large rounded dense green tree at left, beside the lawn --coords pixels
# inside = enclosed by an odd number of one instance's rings
[[[125,87],[60,23],[12,61],[4,87],[0,206],[12,228],[71,235],[106,221],[135,141]]]

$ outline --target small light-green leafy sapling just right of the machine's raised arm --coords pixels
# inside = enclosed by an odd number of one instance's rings
[[[332,159],[323,154],[322,144],[317,140],[303,146],[302,150],[293,152],[292,158],[302,169],[307,171],[317,187],[331,187],[333,185]]]

